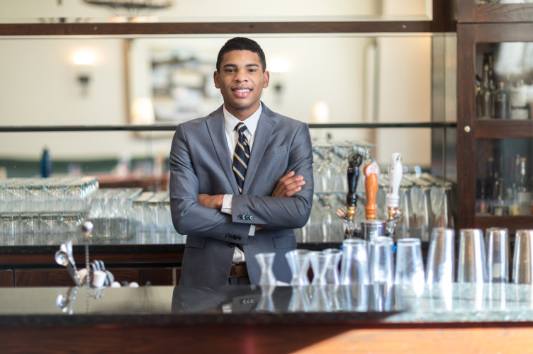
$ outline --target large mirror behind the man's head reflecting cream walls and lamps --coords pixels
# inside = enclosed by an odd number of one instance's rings
[[[213,72],[218,50],[229,38],[1,40],[0,52],[6,54],[0,67],[0,124],[178,124],[205,116],[222,103]],[[267,55],[271,85],[262,101],[275,112],[309,123],[430,121],[429,36],[252,38]],[[313,129],[311,134],[376,144],[380,164],[400,151],[405,164],[430,166],[427,129]],[[22,173],[17,161],[38,166],[44,147],[56,173],[84,161],[109,161],[109,166],[82,168],[83,173],[111,171],[129,160],[132,171],[142,159],[152,161],[145,167],[150,170],[161,166],[155,160],[167,158],[171,142],[172,132],[4,133],[0,158],[9,160],[1,166],[10,177],[35,176],[38,168]]]

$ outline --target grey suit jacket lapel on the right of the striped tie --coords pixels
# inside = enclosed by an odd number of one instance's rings
[[[246,170],[245,185],[242,186],[242,194],[248,192],[249,186],[254,179],[257,168],[259,167],[259,163],[263,158],[264,150],[267,149],[267,144],[274,131],[274,121],[271,119],[273,114],[274,113],[263,104],[261,117],[257,123],[257,129],[255,130],[254,144],[248,161],[248,169]],[[237,184],[237,182],[235,182],[235,184]]]

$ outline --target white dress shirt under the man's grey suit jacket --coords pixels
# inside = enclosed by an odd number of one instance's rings
[[[259,122],[259,117],[261,117],[261,112],[263,110],[262,105],[259,105],[259,108],[248,118],[246,118],[244,121],[246,125],[245,130],[245,137],[249,142],[249,151],[250,154],[252,153],[252,146],[254,145],[254,137],[255,137],[255,130],[257,130],[257,123]],[[233,161],[233,152],[235,152],[235,146],[237,145],[237,141],[239,140],[239,135],[237,130],[235,130],[235,127],[238,123],[241,121],[235,118],[234,115],[228,112],[226,110],[225,106],[223,106],[223,113],[224,113],[224,127],[225,127],[225,133],[226,133],[226,141],[228,142],[228,149],[230,150],[230,156],[232,156],[231,161]],[[246,176],[245,176],[246,180]],[[233,199],[232,194],[225,194],[223,201],[222,201],[222,209],[221,212],[225,212],[226,214],[231,214],[231,202]],[[254,236],[255,234],[255,225],[250,225],[248,236]],[[242,252],[240,249],[235,247],[235,253],[233,253],[233,262],[244,262],[245,260],[245,253]]]

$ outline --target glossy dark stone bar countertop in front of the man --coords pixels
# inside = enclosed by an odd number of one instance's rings
[[[532,287],[511,284],[123,287],[86,299],[84,287],[1,288],[0,326],[533,322]]]

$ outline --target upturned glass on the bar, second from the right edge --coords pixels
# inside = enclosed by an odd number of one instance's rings
[[[509,281],[509,232],[491,227],[485,232],[488,282]]]

